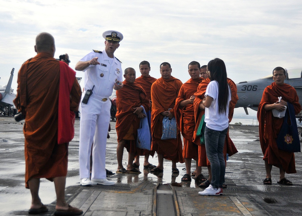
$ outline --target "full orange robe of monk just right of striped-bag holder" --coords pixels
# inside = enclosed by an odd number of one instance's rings
[[[198,146],[192,141],[195,129],[193,103],[189,103],[183,107],[180,107],[180,103],[190,99],[190,97],[196,93],[197,87],[202,80],[203,78],[198,77],[198,80],[191,78],[185,82],[182,87],[180,87],[175,102],[175,118],[184,138],[184,148],[182,150],[184,158],[196,158],[198,156]]]

